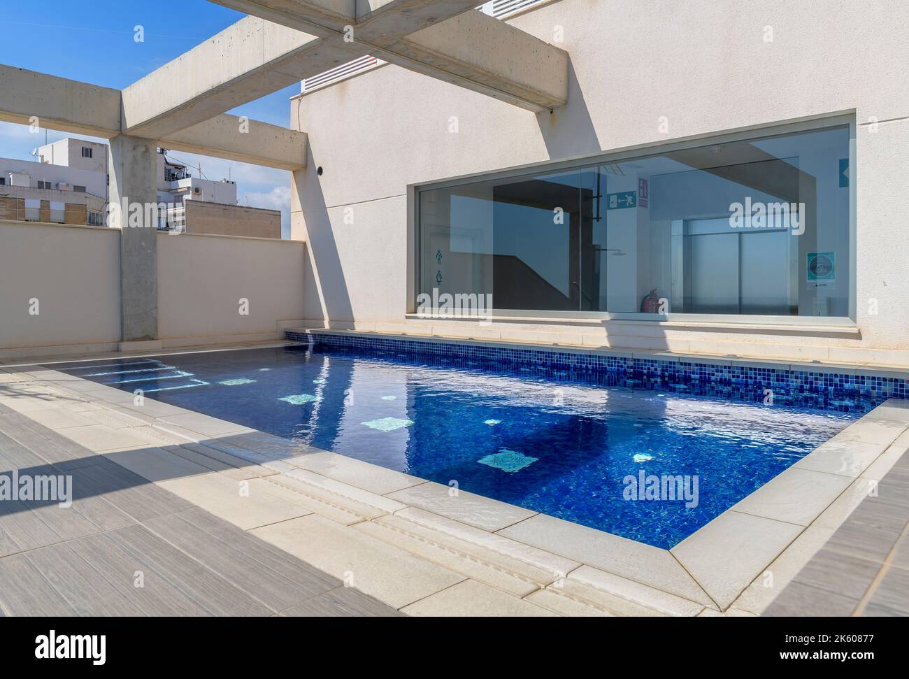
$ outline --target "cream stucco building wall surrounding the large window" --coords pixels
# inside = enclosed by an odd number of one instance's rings
[[[524,329],[570,333],[584,344],[720,353],[751,347],[751,354],[909,363],[909,267],[900,245],[909,89],[894,86],[909,63],[909,5],[561,0],[511,23],[547,41],[556,30],[564,35],[558,46],[572,59],[569,103],[553,114],[534,115],[392,65],[292,102],[291,119],[309,134],[311,154],[295,173],[292,203],[294,237],[309,244],[307,319],[420,325],[405,320],[407,185],[845,113],[858,123],[851,173],[857,334],[620,321]],[[452,116],[456,134],[448,131]],[[874,118],[877,132],[868,125]],[[469,332],[521,329],[504,327]]]

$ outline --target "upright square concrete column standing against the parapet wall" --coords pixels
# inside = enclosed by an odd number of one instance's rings
[[[110,225],[120,236],[122,348],[158,337],[157,145],[154,139],[118,135],[110,140]],[[155,344],[157,344],[155,342]]]

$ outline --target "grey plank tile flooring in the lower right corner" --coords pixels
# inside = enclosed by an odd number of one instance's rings
[[[909,615],[909,454],[903,454],[764,615]]]

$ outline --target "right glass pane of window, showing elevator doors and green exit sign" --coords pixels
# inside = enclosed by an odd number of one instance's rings
[[[848,315],[848,157],[841,125],[587,168],[593,308]]]

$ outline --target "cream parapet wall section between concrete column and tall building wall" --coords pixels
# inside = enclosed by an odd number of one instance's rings
[[[305,244],[158,235],[158,336],[166,346],[282,339],[303,318]]]

